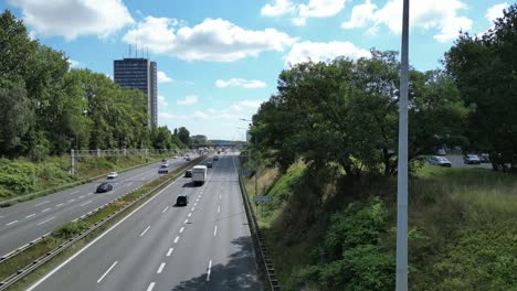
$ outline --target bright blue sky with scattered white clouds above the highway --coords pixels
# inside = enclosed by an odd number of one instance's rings
[[[402,0],[4,0],[74,66],[113,75],[129,44],[158,63],[159,125],[243,139],[288,64],[400,48]],[[513,2],[411,1],[410,64],[440,67],[458,30],[483,33]],[[145,47],[145,50],[141,50]]]

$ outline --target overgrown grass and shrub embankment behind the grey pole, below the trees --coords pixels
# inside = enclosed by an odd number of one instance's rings
[[[285,290],[393,290],[395,179],[258,172],[258,224]],[[254,180],[246,183],[253,195]],[[410,290],[517,290],[517,176],[424,166],[410,182]]]

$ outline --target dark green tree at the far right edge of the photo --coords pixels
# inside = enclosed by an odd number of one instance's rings
[[[517,165],[517,4],[510,6],[483,36],[460,35],[445,54],[468,117],[469,150],[492,153],[494,169]],[[500,154],[500,157],[498,155]],[[498,159],[495,159],[498,158]]]

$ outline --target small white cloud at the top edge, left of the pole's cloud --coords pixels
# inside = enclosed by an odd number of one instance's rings
[[[291,0],[274,0],[261,9],[263,17],[292,14],[293,24],[303,26],[309,18],[330,18],[339,13],[347,0],[309,0],[307,3],[294,4]]]

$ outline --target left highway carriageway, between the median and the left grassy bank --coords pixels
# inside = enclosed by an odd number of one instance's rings
[[[169,170],[187,163],[170,159]],[[113,191],[95,193],[97,185],[108,180],[101,179],[76,187],[61,191],[32,201],[0,208],[0,255],[12,250],[52,231],[57,226],[116,200],[117,197],[159,177],[159,163],[145,165],[109,180]]]

